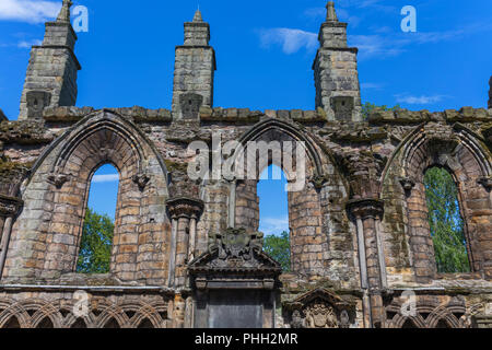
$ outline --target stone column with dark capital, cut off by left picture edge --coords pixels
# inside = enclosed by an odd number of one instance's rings
[[[23,205],[19,198],[0,195],[0,279],[3,276],[13,220]]]

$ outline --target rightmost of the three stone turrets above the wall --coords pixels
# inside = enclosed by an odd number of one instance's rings
[[[327,4],[326,22],[318,39],[319,49],[313,65],[316,107],[325,109],[330,120],[360,120],[358,49],[348,47],[347,23],[338,21],[332,1]]]

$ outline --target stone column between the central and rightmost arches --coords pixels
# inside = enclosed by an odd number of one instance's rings
[[[384,202],[377,199],[352,200],[348,205],[348,210],[358,226],[361,284],[366,295],[364,303],[368,303],[364,308],[371,312],[367,322],[370,327],[380,327],[385,320],[382,292],[387,285],[379,232]]]

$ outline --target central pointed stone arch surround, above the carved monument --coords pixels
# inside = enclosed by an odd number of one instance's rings
[[[348,225],[342,224],[345,213],[341,205],[347,199],[348,190],[332,165],[330,155],[313,137],[301,131],[298,126],[278,119],[259,122],[239,142],[245,149],[244,168],[248,168],[248,163],[256,164],[256,174],[251,178],[245,171],[244,179],[236,178],[232,184],[229,200],[230,225],[249,231],[258,230],[257,183],[262,171],[274,164],[284,172],[290,185],[301,185],[298,190],[288,194],[293,272],[350,280],[349,275],[353,273],[353,256],[349,257],[353,250],[352,236]],[[283,156],[273,154],[259,160],[260,153],[250,151],[250,142],[255,145],[260,142],[273,145],[277,142],[281,150],[291,147],[292,164],[285,162]],[[248,161],[248,153],[254,154],[254,161]],[[305,170],[302,170],[302,163],[297,164],[297,153],[305,159]]]

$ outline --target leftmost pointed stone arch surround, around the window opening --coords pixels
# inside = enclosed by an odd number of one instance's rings
[[[164,282],[167,172],[147,137],[108,110],[78,122],[35,165],[8,255],[8,266],[19,268],[8,269],[7,278],[26,277],[26,267],[27,277],[47,280],[74,271],[90,183],[105,163],[120,175],[110,272],[126,281]],[[16,249],[20,244],[28,248]]]

